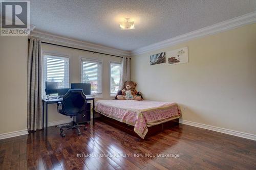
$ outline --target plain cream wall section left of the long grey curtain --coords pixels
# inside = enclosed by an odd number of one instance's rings
[[[0,134],[27,130],[26,36],[0,36]]]

